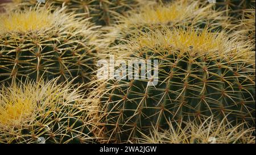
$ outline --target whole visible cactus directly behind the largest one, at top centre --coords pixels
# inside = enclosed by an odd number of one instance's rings
[[[173,27],[212,27],[218,31],[228,19],[216,12],[213,5],[204,5],[205,2],[181,0],[172,1],[166,5],[145,5],[139,11],[130,11],[128,16],[121,16],[116,26],[110,27],[110,46],[123,43],[138,31],[148,31],[147,28]],[[213,29],[215,28],[215,29]]]

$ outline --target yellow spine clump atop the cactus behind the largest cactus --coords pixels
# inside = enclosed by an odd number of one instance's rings
[[[174,1],[167,5],[146,5],[139,11],[130,12],[128,18],[121,18],[120,23],[127,25],[137,24],[184,24],[187,22],[201,22],[203,19],[219,19],[211,7],[201,6],[196,1]],[[213,14],[215,13],[215,14]]]

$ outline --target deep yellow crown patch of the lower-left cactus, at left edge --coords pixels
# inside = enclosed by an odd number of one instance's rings
[[[0,127],[12,127],[23,124],[36,110],[35,88],[31,83],[26,87],[13,85],[1,87],[0,94]]]

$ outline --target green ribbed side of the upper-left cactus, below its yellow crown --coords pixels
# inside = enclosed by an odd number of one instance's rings
[[[47,41],[42,34],[2,35],[0,81],[10,82],[22,77],[52,79],[59,76],[60,82],[77,76],[76,82],[88,81],[86,78],[92,72],[93,61],[88,52],[90,49],[75,42],[81,36],[62,33],[59,37],[54,34],[50,37],[52,40]]]

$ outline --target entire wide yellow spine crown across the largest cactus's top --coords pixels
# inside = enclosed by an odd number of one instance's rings
[[[203,55],[207,52],[209,56],[241,56],[245,60],[253,60],[250,44],[237,41],[237,38],[229,39],[224,31],[215,33],[210,32],[209,28],[203,30],[195,30],[190,28],[173,28],[170,30],[163,27],[162,30],[154,29],[151,32],[135,33],[129,41],[128,48],[125,48],[127,55],[131,55],[133,51],[138,51],[142,47],[154,49],[155,47],[179,49],[180,53],[189,52]],[[122,45],[115,48],[122,47]],[[248,48],[247,48],[248,47]],[[240,51],[239,53],[237,51]],[[130,52],[129,52],[130,51]],[[155,51],[158,52],[158,51]],[[121,53],[121,52],[119,52]]]

